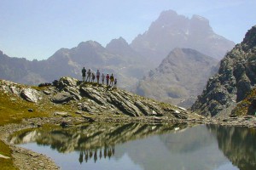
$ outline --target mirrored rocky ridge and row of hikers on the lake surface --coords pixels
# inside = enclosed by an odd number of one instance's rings
[[[115,144],[122,144],[129,140],[143,139],[150,135],[170,133],[175,127],[183,129],[186,124],[102,124],[85,123],[76,127],[40,127],[14,136],[11,144],[36,142],[50,145],[52,149],[61,153],[74,150],[80,151],[79,162],[87,162],[93,158],[96,162],[114,155]]]

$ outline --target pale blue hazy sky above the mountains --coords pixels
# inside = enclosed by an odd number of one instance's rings
[[[129,43],[164,10],[210,20],[236,43],[256,25],[255,0],[0,0],[0,50],[10,57],[47,59],[60,48],[113,38]]]

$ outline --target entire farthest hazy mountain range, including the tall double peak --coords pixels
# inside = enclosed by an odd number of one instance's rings
[[[85,66],[94,72],[99,69],[105,74],[113,73],[118,78],[120,88],[134,92],[137,82],[160,65],[173,48],[194,48],[202,54],[220,59],[233,46],[234,42],[212,31],[207,19],[196,15],[188,19],[168,10],[160,14],[148,31],[136,37],[131,44],[122,37],[113,39],[106,48],[95,41],[80,42],[77,47],[61,48],[49,59],[40,61],[10,58],[0,51],[0,78],[25,84],[52,82],[59,77],[81,79],[81,69]],[[183,62],[187,65],[187,60]],[[215,64],[213,61],[210,65]],[[211,72],[211,69],[209,67],[206,72]],[[177,70],[183,71],[183,68]],[[185,75],[185,72],[178,74]],[[191,81],[204,86],[203,80],[197,80]],[[182,84],[180,88],[185,86]],[[184,93],[186,96],[196,94],[189,94],[189,90]],[[149,95],[145,93],[145,96]]]

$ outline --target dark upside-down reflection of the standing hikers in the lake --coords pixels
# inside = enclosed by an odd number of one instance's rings
[[[85,162],[87,162],[89,159],[92,158],[92,156],[93,156],[94,162],[96,162],[98,160],[98,154],[100,154],[100,159],[102,159],[102,148],[89,149],[89,150],[84,150],[84,151],[81,150],[80,154],[79,154],[79,162],[81,164],[83,162],[83,159]],[[114,145],[111,145],[111,146],[105,145],[104,149],[103,149],[103,155],[104,155],[105,159],[107,157],[108,157],[108,159],[110,159],[110,157],[114,155]]]

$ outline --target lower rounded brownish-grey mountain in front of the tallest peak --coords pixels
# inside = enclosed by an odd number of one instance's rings
[[[137,94],[191,106],[209,77],[218,71],[218,60],[190,48],[175,48],[161,64],[138,83]]]

